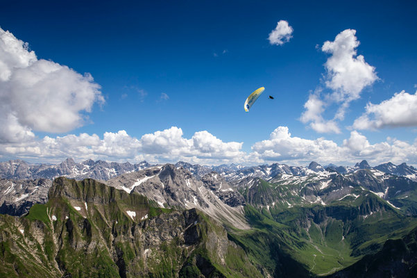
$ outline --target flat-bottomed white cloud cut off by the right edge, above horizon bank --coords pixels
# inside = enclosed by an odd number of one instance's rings
[[[366,105],[366,112],[353,123],[353,129],[417,126],[417,95],[402,91],[380,104]]]

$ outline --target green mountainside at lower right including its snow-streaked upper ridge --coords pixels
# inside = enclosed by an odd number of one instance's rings
[[[366,190],[365,185],[359,186],[339,174],[333,176],[316,183],[311,180],[314,177],[295,183],[259,179],[250,188],[241,188],[250,204],[245,208],[246,217],[257,231],[236,232],[231,237],[275,277],[287,277],[293,269],[297,277],[314,277],[330,275],[376,254],[387,240],[404,238],[417,227],[416,217]],[[408,181],[386,183],[392,188],[406,188]],[[410,186],[408,189],[407,194],[414,190]],[[308,190],[315,190],[318,196],[348,191],[340,199],[323,197],[324,204],[306,202]],[[280,263],[284,258],[291,261]]]

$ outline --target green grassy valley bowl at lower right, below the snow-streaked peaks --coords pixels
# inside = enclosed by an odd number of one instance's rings
[[[264,192],[272,192],[270,196],[276,199],[282,194],[278,190],[291,190],[291,186],[278,188],[261,180],[257,193],[250,197],[247,188],[241,191],[246,199],[254,200],[264,197]],[[277,258],[290,256],[295,262],[289,265],[303,268],[298,274],[302,277],[346,268],[364,255],[381,250],[386,240],[402,238],[417,227],[416,218],[403,215],[368,191],[358,187],[352,193],[359,197],[349,196],[327,206],[282,208],[275,204],[269,209],[247,206],[246,216],[256,230],[235,231],[231,238],[246,248],[251,259],[265,265],[277,277],[286,271],[286,265]],[[293,200],[296,201],[295,196]]]

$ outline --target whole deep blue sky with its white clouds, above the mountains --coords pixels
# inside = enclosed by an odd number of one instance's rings
[[[417,165],[416,1],[0,5],[0,161]]]

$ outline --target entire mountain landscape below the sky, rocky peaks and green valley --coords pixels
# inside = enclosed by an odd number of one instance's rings
[[[417,277],[402,163],[0,163],[0,277]]]

